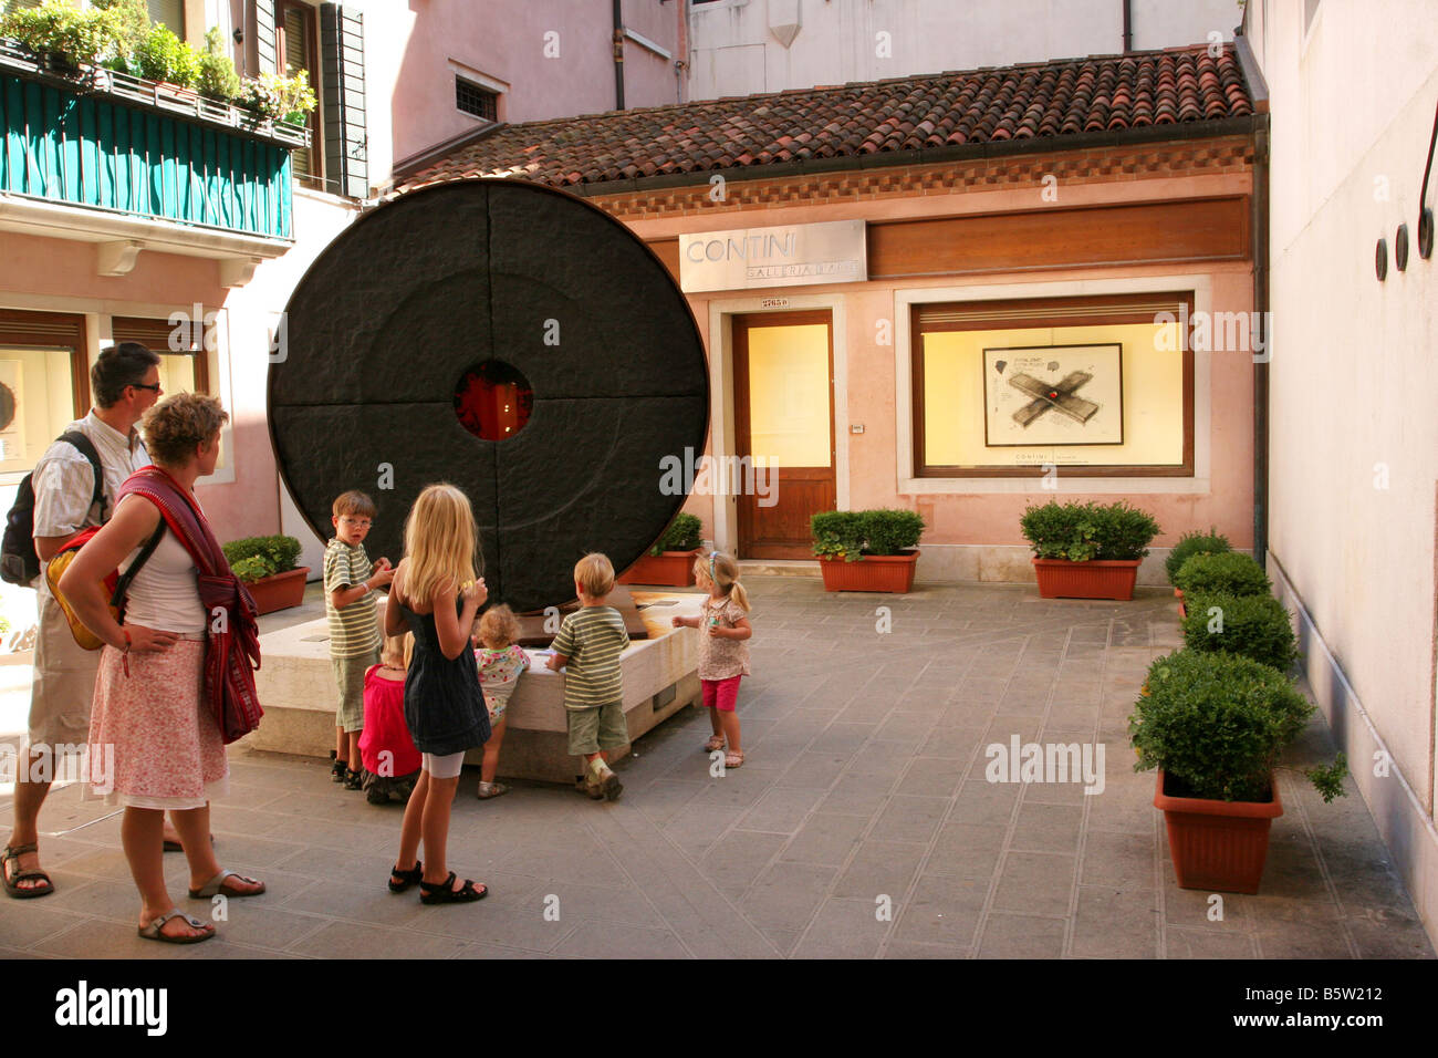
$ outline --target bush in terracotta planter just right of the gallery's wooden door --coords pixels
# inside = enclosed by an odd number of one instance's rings
[[[913,511],[820,511],[810,518],[825,592],[907,592],[923,518]]]

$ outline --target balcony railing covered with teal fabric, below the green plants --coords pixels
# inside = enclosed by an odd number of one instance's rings
[[[290,150],[309,130],[0,40],[0,193],[293,239]]]

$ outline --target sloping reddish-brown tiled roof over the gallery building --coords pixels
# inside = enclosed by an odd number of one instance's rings
[[[1061,59],[500,125],[403,190],[513,176],[557,187],[1204,122],[1254,112],[1234,49]],[[755,173],[762,176],[762,173]]]

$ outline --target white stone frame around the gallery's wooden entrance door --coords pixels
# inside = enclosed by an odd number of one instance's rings
[[[774,305],[782,299],[785,304]],[[699,305],[695,305],[696,314]],[[784,289],[707,302],[709,331],[709,452],[716,459],[735,455],[733,317],[828,309],[833,338],[834,390],[834,505],[848,510],[848,295],[791,294]],[[735,497],[712,497],[713,544],[733,554],[739,546],[739,505]]]

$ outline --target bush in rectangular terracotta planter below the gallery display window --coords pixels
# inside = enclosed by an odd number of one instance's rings
[[[1024,511],[1018,524],[1044,599],[1132,599],[1139,563],[1160,531],[1148,511],[1126,502],[1050,499]]]

